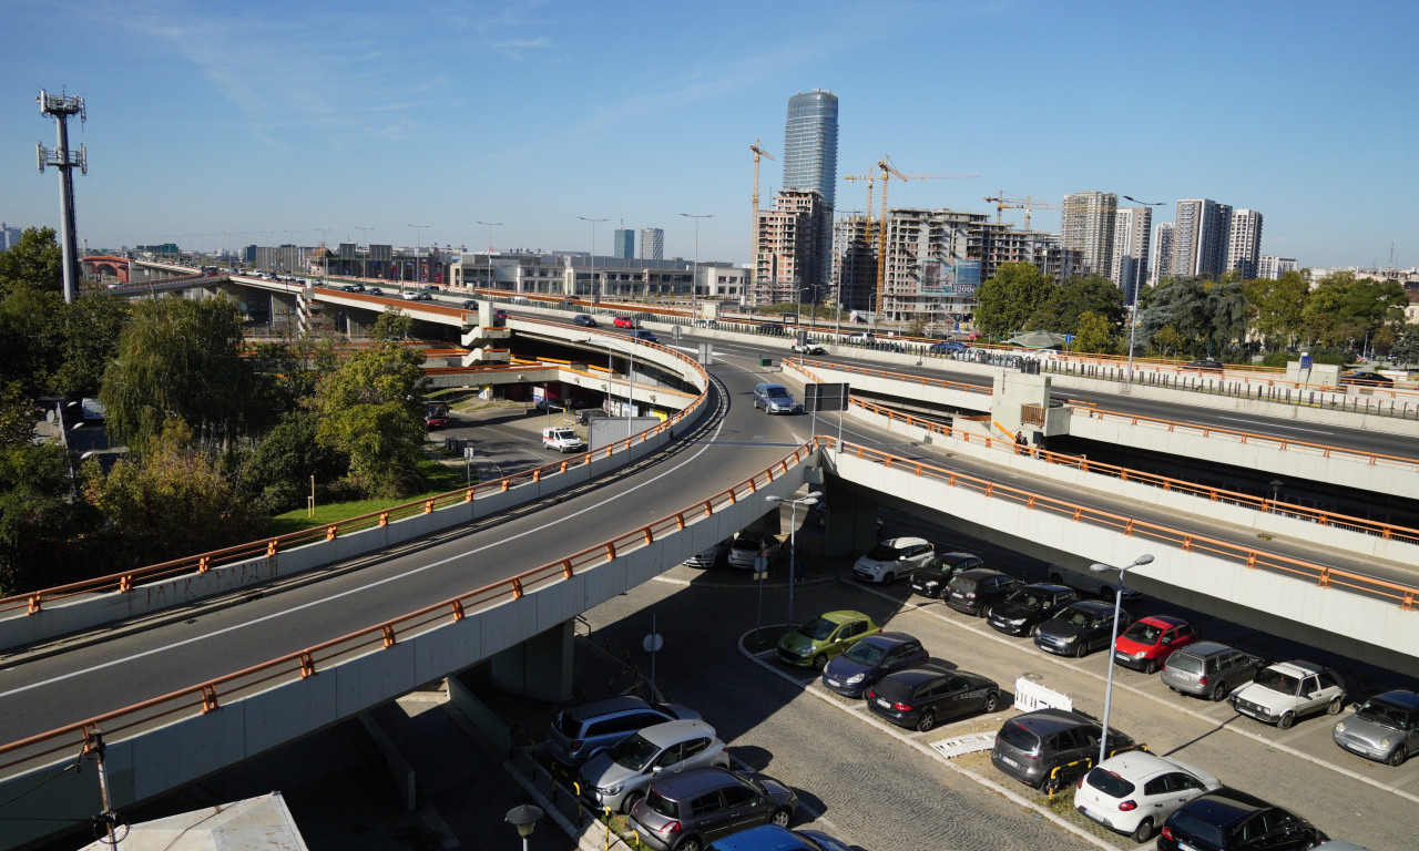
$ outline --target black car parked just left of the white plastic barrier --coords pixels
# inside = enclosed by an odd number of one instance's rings
[[[873,715],[927,732],[938,721],[995,712],[1000,705],[1000,686],[989,677],[942,662],[924,662],[883,677],[863,696]]]

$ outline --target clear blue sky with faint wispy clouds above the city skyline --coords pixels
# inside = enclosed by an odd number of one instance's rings
[[[1260,210],[1261,251],[1419,265],[1419,4],[0,0],[0,220],[58,223],[40,88],[81,95],[91,247],[359,241],[746,262],[782,183],[788,98],[840,98],[839,172],[891,206],[993,213],[1005,190]],[[840,182],[839,210],[866,187]],[[1006,211],[1022,221],[1019,211]],[[429,226],[413,228],[410,224]],[[1057,230],[1059,214],[1034,214]],[[362,230],[370,228],[370,230]]]

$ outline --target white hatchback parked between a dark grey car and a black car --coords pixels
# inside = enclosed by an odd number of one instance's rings
[[[1222,782],[1186,763],[1147,750],[1111,756],[1080,777],[1074,808],[1135,842],[1154,831],[1192,799],[1220,789]]]

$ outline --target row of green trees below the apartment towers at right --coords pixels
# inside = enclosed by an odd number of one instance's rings
[[[1124,353],[1124,292],[1107,278],[1056,284],[1037,267],[1005,264],[976,292],[976,326],[1002,338],[1044,329],[1076,335],[1071,349]],[[1409,304],[1393,281],[1332,272],[1313,289],[1298,272],[1280,279],[1169,278],[1139,291],[1135,346],[1161,357],[1242,359],[1259,349],[1347,349],[1419,362],[1419,332],[1405,325]]]

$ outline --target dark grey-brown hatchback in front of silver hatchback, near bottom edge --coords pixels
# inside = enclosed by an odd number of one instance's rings
[[[698,851],[749,827],[788,827],[795,813],[797,794],[773,777],[705,766],[651,782],[630,810],[630,825],[656,851]]]

